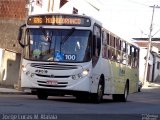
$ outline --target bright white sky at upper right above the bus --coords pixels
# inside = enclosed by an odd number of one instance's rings
[[[160,0],[97,0],[100,19],[107,29],[122,38],[148,37],[153,7]],[[154,9],[153,37],[160,37],[160,8]]]

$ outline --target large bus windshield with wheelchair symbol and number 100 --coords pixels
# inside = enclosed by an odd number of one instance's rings
[[[36,61],[88,62],[91,31],[77,29],[28,29],[25,58]]]

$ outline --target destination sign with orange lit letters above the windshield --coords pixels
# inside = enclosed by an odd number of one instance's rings
[[[39,15],[30,16],[28,25],[58,25],[58,26],[91,26],[89,18],[72,15]]]

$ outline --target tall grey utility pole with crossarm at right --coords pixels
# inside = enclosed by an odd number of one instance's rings
[[[149,62],[149,56],[150,56],[151,44],[152,44],[154,10],[155,10],[155,8],[160,8],[158,5],[157,6],[154,5],[154,6],[150,6],[150,7],[153,8],[153,12],[152,12],[151,25],[150,25],[150,32],[149,32],[148,50],[147,50],[146,64],[145,64],[145,69],[144,69],[143,84],[147,83],[148,62]]]

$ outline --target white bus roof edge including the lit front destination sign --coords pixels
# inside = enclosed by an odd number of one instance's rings
[[[125,40],[114,34],[113,32],[107,30],[103,27],[102,23],[93,17],[78,14],[64,14],[64,13],[46,13],[46,14],[36,14],[29,15],[27,18],[27,25],[29,26],[78,26],[78,27],[91,27],[93,24],[98,24],[105,31],[109,32],[113,36],[126,41],[129,44],[139,48],[139,46],[132,42],[131,40]]]

